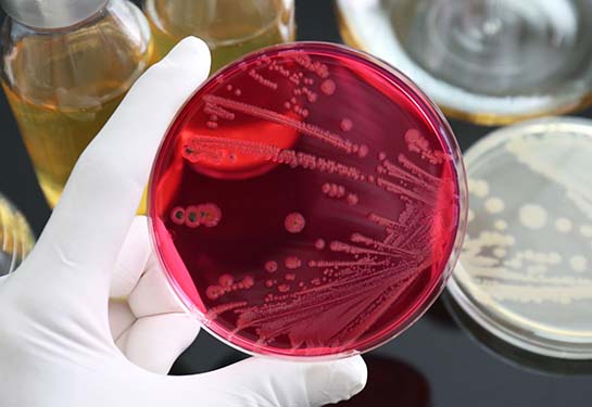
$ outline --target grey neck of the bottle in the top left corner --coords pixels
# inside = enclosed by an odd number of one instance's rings
[[[110,0],[0,0],[7,14],[38,29],[78,24],[102,10]]]

